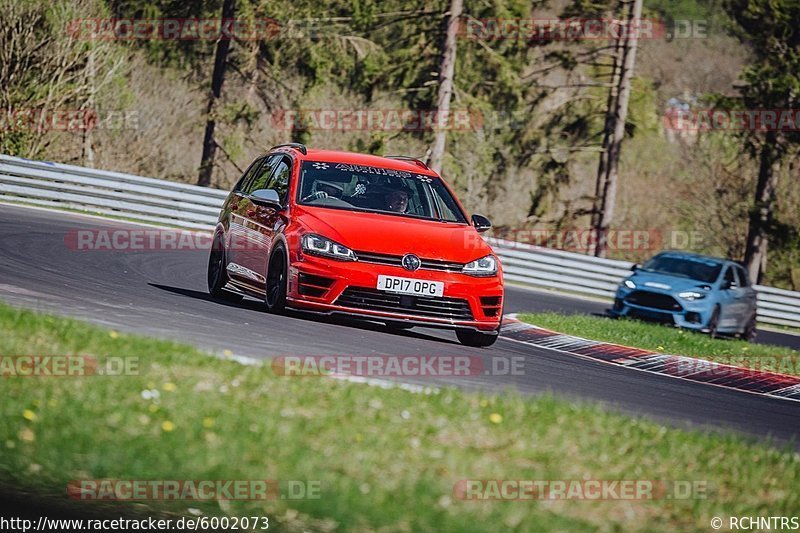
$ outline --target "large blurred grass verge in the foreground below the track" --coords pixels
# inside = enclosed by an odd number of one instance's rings
[[[425,395],[279,377],[269,367],[2,305],[0,331],[4,355],[141,361],[140,375],[1,377],[6,490],[63,502],[75,479],[320,482],[318,499],[106,503],[115,516],[195,508],[267,515],[279,530],[707,530],[714,516],[800,508],[796,451],[740,436],[667,428],[550,396]],[[158,401],[143,397],[153,389]],[[705,499],[475,502],[453,495],[467,478],[695,480],[709,489]],[[95,505],[72,503],[79,515]]]

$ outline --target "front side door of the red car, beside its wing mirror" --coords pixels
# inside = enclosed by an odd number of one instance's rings
[[[269,177],[263,182],[256,178],[249,192],[252,194],[259,189],[273,189],[277,191],[281,204],[286,205],[292,161],[287,156],[280,156],[274,165],[270,165],[270,169]],[[247,253],[242,256],[241,266],[258,283],[258,287],[263,288],[267,260],[272,252],[272,243],[275,234],[281,231],[285,225],[285,218],[281,211],[272,207],[256,205],[251,200],[248,200],[243,216],[246,219]]]

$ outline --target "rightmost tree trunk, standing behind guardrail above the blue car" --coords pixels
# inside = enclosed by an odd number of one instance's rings
[[[745,268],[754,283],[760,283],[767,265],[768,231],[775,209],[775,190],[778,186],[780,158],[777,150],[777,135],[767,132],[759,154],[758,185],[750,225],[747,231]]]

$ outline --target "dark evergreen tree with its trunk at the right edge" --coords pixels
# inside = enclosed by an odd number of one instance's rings
[[[796,110],[800,105],[800,3],[728,0],[725,8],[738,25],[739,38],[754,54],[739,88],[745,109]],[[759,161],[745,248],[746,268],[758,282],[766,270],[781,166],[788,155],[797,155],[800,136],[797,131],[773,127],[767,131],[746,128],[741,138],[747,152]]]

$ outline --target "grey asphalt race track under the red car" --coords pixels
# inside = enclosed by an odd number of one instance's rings
[[[116,227],[134,226],[0,204],[0,299],[120,331],[185,341],[216,352],[229,349],[255,358],[325,354],[519,357],[524,359],[521,375],[454,377],[434,383],[470,389],[515,388],[523,393],[551,391],[680,427],[735,430],[792,440],[795,445],[800,440],[797,402],[636,372],[502,338],[489,349],[466,348],[445,330],[390,333],[377,323],[300,314],[273,316],[255,300],[230,304],[210,299],[203,250],[75,251],[65,244],[70,231]],[[605,308],[601,302],[508,288],[505,311],[602,313]],[[759,341],[800,349],[800,337],[789,334],[762,331]]]

